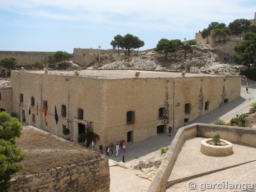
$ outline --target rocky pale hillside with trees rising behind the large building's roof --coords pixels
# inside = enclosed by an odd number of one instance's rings
[[[193,53],[186,55],[179,51],[176,55],[168,53],[168,58],[164,59],[162,52],[140,52],[134,56],[124,54],[114,55],[112,63],[93,68],[101,69],[151,69],[151,70],[172,70],[189,71],[190,66],[198,66],[200,73],[237,75],[238,69],[243,66],[233,62],[233,56],[220,52],[211,47],[210,44],[192,45]],[[101,64],[102,65],[102,64]]]

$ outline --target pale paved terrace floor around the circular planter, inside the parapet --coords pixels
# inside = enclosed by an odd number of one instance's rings
[[[169,177],[169,180],[179,179],[183,177],[187,177],[190,175],[195,175],[201,172],[207,172],[210,170],[215,170],[231,165],[236,165],[239,163],[243,163],[250,160],[256,160],[256,148],[255,147],[247,147],[244,145],[233,144],[233,154],[229,156],[207,156],[200,152],[200,144],[204,138],[190,138],[186,140],[184,143],[178,157],[176,163],[173,167],[172,173]],[[189,158],[187,158],[189,154]],[[239,173],[241,170],[241,166],[243,169],[247,169],[248,166],[252,170],[247,170]],[[182,171],[180,171],[182,170]],[[190,179],[188,181],[184,181],[178,184],[175,184],[168,188],[166,191],[189,191],[188,183],[190,181],[194,181],[198,186],[200,183],[221,183],[222,180],[220,178],[223,174],[233,175],[234,172],[238,172],[236,178],[232,177],[224,177],[223,181],[228,181],[229,183],[244,183],[245,181],[248,183],[256,184],[256,161],[248,164],[239,165],[237,167],[229,168],[224,171],[212,173],[206,176],[198,177],[195,179]],[[243,173],[243,174],[242,174]],[[242,175],[241,175],[242,174]],[[238,175],[240,177],[238,177]],[[211,182],[210,182],[211,181]],[[199,190],[198,190],[199,189]],[[196,188],[196,191],[200,191],[200,188]],[[206,190],[207,191],[207,190]],[[215,190],[214,190],[215,191]],[[227,191],[222,190],[222,191]],[[231,190],[229,190],[231,191]],[[241,191],[241,190],[240,190]]]

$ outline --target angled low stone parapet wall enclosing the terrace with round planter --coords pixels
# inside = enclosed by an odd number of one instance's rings
[[[172,143],[148,188],[148,192],[164,191],[166,187],[169,186],[167,181],[172,172],[172,167],[175,164],[180,148],[182,148],[184,139],[197,135],[199,137],[212,138],[216,134],[220,134],[221,139],[231,143],[256,147],[256,130],[254,128],[213,124],[191,124],[181,127],[172,140]]]

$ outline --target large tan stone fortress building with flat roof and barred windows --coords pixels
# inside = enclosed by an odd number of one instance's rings
[[[92,122],[96,149],[139,142],[196,119],[240,96],[240,76],[135,70],[12,71],[12,111],[21,121],[77,143]],[[136,74],[135,74],[136,73]],[[137,75],[137,77],[135,76]],[[138,76],[139,75],[139,76]],[[38,100],[39,113],[36,116]],[[28,116],[30,102],[31,115]],[[59,121],[55,129],[55,104]]]

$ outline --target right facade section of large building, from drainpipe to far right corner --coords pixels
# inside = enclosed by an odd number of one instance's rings
[[[184,125],[184,118],[189,120],[203,116],[210,111],[240,97],[240,76],[216,77],[180,77],[174,80],[174,129]],[[205,109],[205,103],[207,108]],[[190,113],[185,112],[185,105],[190,104]]]

